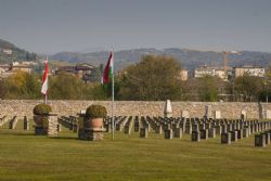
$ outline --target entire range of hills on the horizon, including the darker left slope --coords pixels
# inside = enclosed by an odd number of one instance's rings
[[[99,48],[100,49],[100,48]],[[5,50],[5,52],[4,52]],[[12,50],[9,54],[7,50]],[[198,51],[189,49],[170,48],[157,50],[153,48],[120,50],[115,52],[115,68],[121,69],[128,65],[136,64],[143,55],[158,54],[171,55],[186,69],[193,69],[201,65],[222,66],[223,57],[221,52]],[[12,61],[33,61],[35,53],[20,49],[13,43],[0,39],[0,64],[11,63]],[[106,64],[109,52],[98,51],[91,53],[80,52],[60,52],[50,56],[51,60],[63,61],[68,63],[89,63],[94,66]],[[229,54],[229,66],[268,66],[271,64],[271,53],[243,51],[242,54]]]

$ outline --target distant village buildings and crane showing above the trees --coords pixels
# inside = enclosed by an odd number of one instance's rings
[[[2,49],[5,54],[12,54],[12,50]],[[230,67],[227,65],[227,56],[224,57],[224,65],[221,67],[203,65],[194,68],[193,70],[182,69],[180,72],[181,80],[186,81],[188,79],[201,78],[204,76],[218,77],[223,81],[231,81],[232,79],[249,75],[256,77],[264,77],[266,68],[259,66],[242,66],[242,67]],[[11,64],[0,64],[0,79],[9,78],[10,76],[16,74],[18,70],[30,74],[33,72],[33,66],[37,65],[37,61],[34,62],[12,62]],[[69,73],[78,76],[83,81],[91,81],[92,70],[95,67],[88,63],[81,63],[74,66],[61,66],[55,67],[50,70],[50,75],[59,75],[60,73]]]

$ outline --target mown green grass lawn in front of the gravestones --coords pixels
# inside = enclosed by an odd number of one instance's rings
[[[254,135],[231,145],[220,138],[199,143],[190,135],[165,140],[117,132],[101,142],[0,129],[0,180],[271,180],[271,145],[254,147]]]

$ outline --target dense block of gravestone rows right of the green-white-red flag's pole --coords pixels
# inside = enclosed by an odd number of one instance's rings
[[[121,131],[125,129],[125,133],[130,133],[132,125],[134,126],[134,131],[140,130],[141,138],[147,138],[151,129],[154,129],[155,133],[162,134],[165,132],[165,139],[182,138],[182,133],[189,133],[192,135],[192,141],[198,142],[201,140],[207,140],[209,138],[216,138],[217,134],[221,135],[222,144],[231,144],[231,142],[236,142],[240,139],[248,138],[251,133],[258,133],[271,128],[270,121],[259,121],[250,120],[244,121],[242,119],[237,120],[227,120],[227,119],[181,119],[181,118],[162,118],[162,117],[136,117],[134,119],[130,117],[116,117],[116,130]],[[131,124],[133,122],[133,124]],[[193,122],[193,125],[192,125]],[[109,127],[109,121],[105,125]],[[139,127],[141,128],[139,129]],[[107,129],[106,129],[107,130]],[[255,141],[255,146],[267,145],[269,131],[261,134],[256,134],[262,142],[257,144]],[[266,137],[266,139],[263,138]],[[255,138],[255,140],[257,140]]]

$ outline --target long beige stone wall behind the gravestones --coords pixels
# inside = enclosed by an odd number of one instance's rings
[[[41,103],[41,100],[0,100],[0,117],[33,116],[35,105]],[[183,111],[189,112],[190,117],[203,117],[206,114],[206,107],[210,115],[215,111],[220,112],[222,118],[240,118],[241,112],[246,112],[247,118],[266,118],[266,111],[271,111],[271,104],[267,103],[241,103],[241,102],[171,102],[173,117],[181,116]],[[76,115],[81,109],[86,109],[91,104],[101,104],[107,108],[111,114],[111,101],[61,101],[51,100],[49,104],[54,113],[59,115]],[[116,101],[115,115],[130,116],[164,116],[165,102],[162,101]]]

